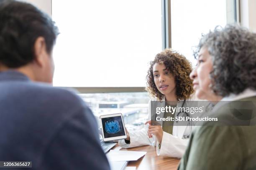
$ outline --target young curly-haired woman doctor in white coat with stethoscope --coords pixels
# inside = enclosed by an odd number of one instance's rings
[[[190,62],[179,53],[166,49],[156,55],[151,61],[147,75],[147,90],[154,97],[148,103],[148,130],[143,128],[138,131],[129,131],[128,138],[119,140],[123,148],[132,148],[142,145],[156,145],[158,155],[181,158],[187,147],[188,138],[192,127],[175,126],[174,122],[161,122],[161,125],[153,125],[152,117],[156,115],[151,112],[151,101],[160,107],[165,107],[167,101],[175,103],[175,106],[186,107],[189,97],[192,95],[192,80],[189,74],[192,71]],[[167,117],[164,113],[162,117]],[[172,115],[170,115],[172,116]],[[177,116],[177,112],[175,113]]]

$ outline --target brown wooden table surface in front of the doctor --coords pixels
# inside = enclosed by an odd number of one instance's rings
[[[116,148],[116,146],[115,146]],[[115,148],[113,148],[115,150]],[[128,167],[136,167],[136,170],[177,170],[179,159],[157,156],[156,147],[140,146],[121,150],[146,151],[146,155],[136,161],[130,161]]]

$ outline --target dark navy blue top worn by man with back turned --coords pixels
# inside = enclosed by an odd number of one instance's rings
[[[0,160],[32,161],[30,170],[110,169],[85,103],[15,71],[0,72]]]

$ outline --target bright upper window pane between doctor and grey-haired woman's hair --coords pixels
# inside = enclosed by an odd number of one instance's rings
[[[193,65],[193,47],[202,33],[215,26],[234,23],[234,0],[171,0],[172,48],[181,52]],[[227,20],[228,18],[228,20]]]

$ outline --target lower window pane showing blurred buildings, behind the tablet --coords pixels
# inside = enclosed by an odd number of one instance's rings
[[[122,113],[125,127],[138,130],[148,119],[147,92],[79,94],[94,113],[98,125],[100,115]]]

